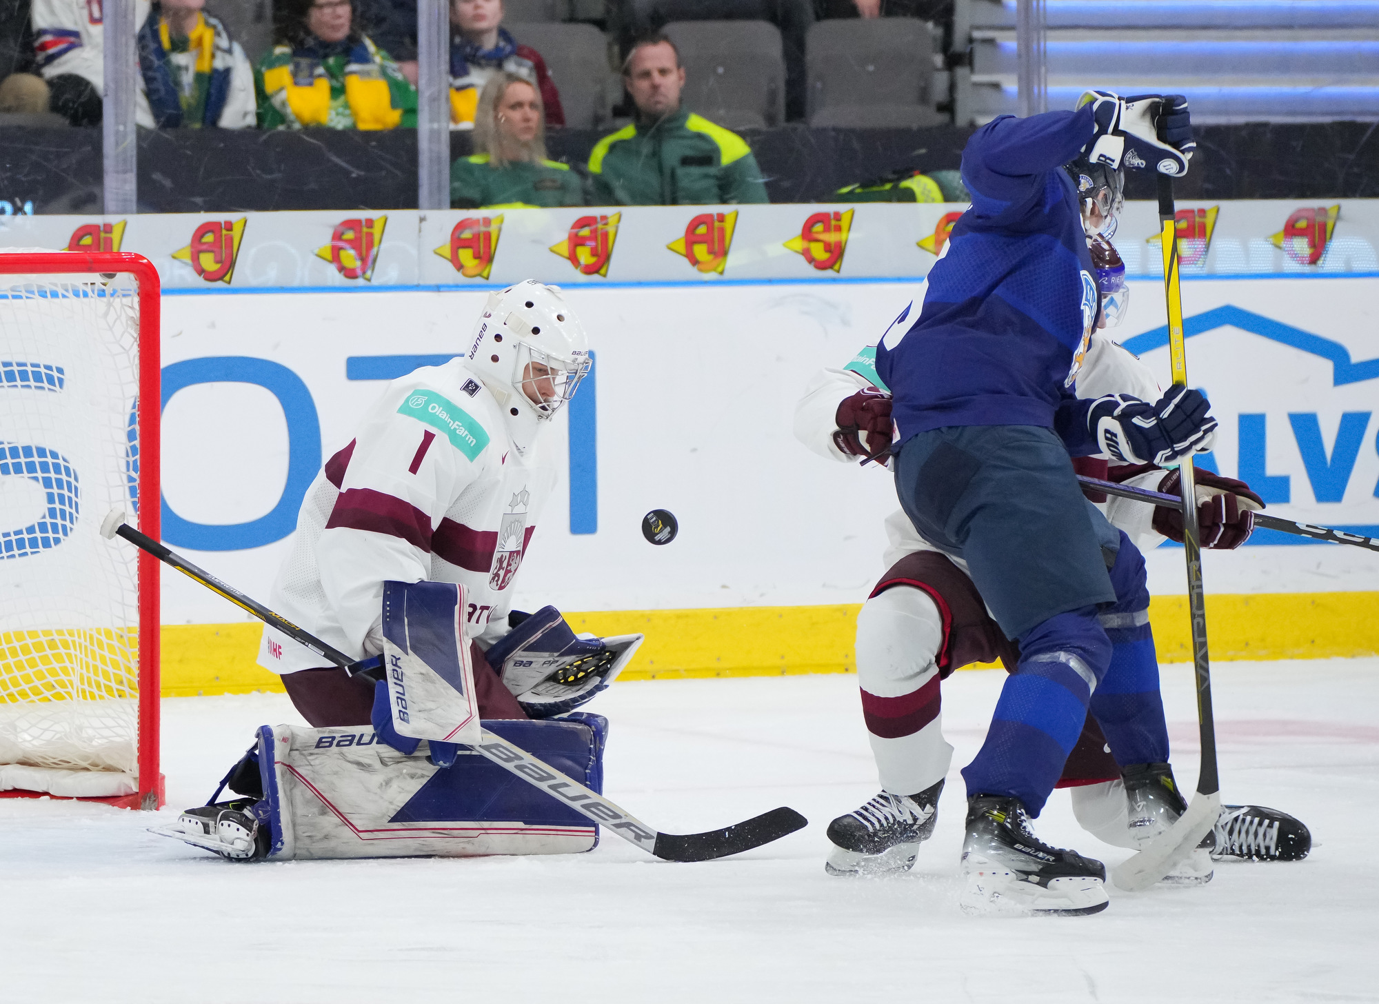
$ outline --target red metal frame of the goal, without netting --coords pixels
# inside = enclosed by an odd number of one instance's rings
[[[161,284],[159,272],[143,255],[127,251],[17,251],[0,254],[4,273],[74,274],[125,273],[134,277],[139,302],[139,530],[161,539],[160,425],[163,371],[160,365]],[[148,332],[148,337],[145,337]],[[101,514],[103,516],[103,513]],[[99,517],[98,517],[99,519]],[[120,808],[156,810],[164,803],[159,772],[160,674],[159,560],[142,550],[139,570],[139,790],[134,794],[83,799]],[[0,792],[0,799],[58,797],[46,792]]]

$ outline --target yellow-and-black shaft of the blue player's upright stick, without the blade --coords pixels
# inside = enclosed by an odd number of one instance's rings
[[[1174,207],[1174,179],[1158,174],[1158,218],[1162,223],[1164,294],[1168,301],[1168,352],[1174,363],[1174,383],[1187,386],[1187,346],[1183,335],[1183,295],[1178,276],[1178,214]],[[1216,721],[1211,705],[1211,658],[1207,650],[1207,600],[1202,588],[1201,535],[1197,527],[1197,487],[1193,456],[1179,458],[1183,552],[1187,560],[1187,611],[1191,618],[1193,666],[1197,673],[1197,725],[1201,734],[1198,794],[1220,790],[1216,771]]]

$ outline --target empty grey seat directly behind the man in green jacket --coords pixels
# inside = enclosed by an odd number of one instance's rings
[[[775,25],[673,21],[663,30],[685,68],[685,108],[725,128],[785,121],[785,57]]]

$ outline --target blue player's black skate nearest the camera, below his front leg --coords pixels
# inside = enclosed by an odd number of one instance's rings
[[[961,874],[965,913],[1076,917],[1109,902],[1106,866],[1041,841],[1019,799],[1007,796],[967,800]]]

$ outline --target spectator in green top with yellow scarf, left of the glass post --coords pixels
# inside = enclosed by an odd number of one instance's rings
[[[352,0],[284,0],[258,66],[259,127],[416,127],[416,88],[354,29]]]

